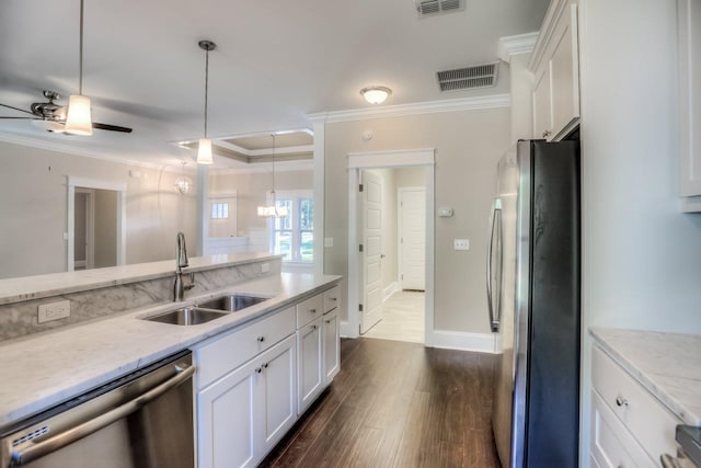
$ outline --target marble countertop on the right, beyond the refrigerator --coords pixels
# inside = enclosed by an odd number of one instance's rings
[[[606,328],[589,333],[686,424],[701,425],[701,335]]]

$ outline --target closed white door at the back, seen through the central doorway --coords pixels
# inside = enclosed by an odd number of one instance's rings
[[[426,190],[400,189],[402,289],[426,289]]]

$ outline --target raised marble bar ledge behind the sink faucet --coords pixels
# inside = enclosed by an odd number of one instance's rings
[[[279,259],[281,256],[267,252],[194,256],[188,259],[189,266],[183,269],[183,271],[197,272],[214,267],[258,262],[265,259]],[[165,260],[162,262],[0,279],[0,305],[172,276],[174,271],[175,261]]]

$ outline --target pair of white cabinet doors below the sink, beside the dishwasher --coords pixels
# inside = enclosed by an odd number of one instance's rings
[[[295,336],[197,392],[198,466],[255,466],[297,420]]]

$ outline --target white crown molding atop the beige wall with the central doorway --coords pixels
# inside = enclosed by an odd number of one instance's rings
[[[348,111],[331,111],[309,114],[312,123],[364,121],[381,117],[404,117],[407,115],[434,114],[437,112],[475,111],[480,109],[510,107],[510,94],[492,94],[475,98],[445,99],[439,101],[417,102],[413,104],[383,105],[380,107],[352,109]]]

